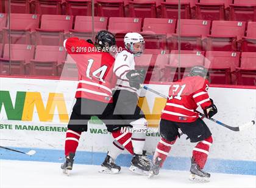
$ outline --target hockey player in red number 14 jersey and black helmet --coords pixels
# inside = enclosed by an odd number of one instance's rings
[[[66,161],[61,168],[64,173],[72,170],[74,155],[82,132],[87,131],[91,116],[104,119],[112,114],[112,88],[116,84],[113,73],[115,58],[110,50],[116,44],[115,36],[102,30],[95,37],[95,44],[79,38],[68,38],[64,47],[77,65],[79,83],[76,104],[68,123],[65,140]]]

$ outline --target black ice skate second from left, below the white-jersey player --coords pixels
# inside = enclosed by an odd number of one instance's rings
[[[115,163],[115,160],[107,155],[104,162],[101,164],[102,169],[99,170],[101,173],[118,173],[121,167]]]

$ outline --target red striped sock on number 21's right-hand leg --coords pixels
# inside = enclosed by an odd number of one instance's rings
[[[204,139],[203,141],[199,142],[196,144],[196,146],[193,149],[193,158],[196,164],[201,169],[204,169],[204,165],[207,161],[208,153],[209,153],[209,148],[213,143],[213,138],[212,136]]]

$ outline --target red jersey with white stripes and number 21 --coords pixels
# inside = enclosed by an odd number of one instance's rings
[[[199,117],[198,113],[194,112],[197,107],[205,109],[211,104],[207,79],[188,76],[172,83],[161,118],[183,123],[193,122]]]

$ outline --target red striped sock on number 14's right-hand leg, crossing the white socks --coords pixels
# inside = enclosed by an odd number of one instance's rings
[[[112,132],[113,138],[118,141],[125,149],[127,149],[130,154],[134,155],[133,153],[133,147],[132,147],[132,133],[126,131],[126,132],[121,132],[121,130],[117,130],[115,132]]]

